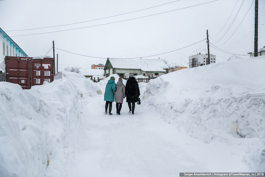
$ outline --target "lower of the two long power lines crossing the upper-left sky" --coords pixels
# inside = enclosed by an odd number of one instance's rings
[[[189,7],[195,7],[195,6],[199,6],[199,5],[203,5],[203,4],[208,4],[208,3],[211,3],[211,2],[215,2],[215,1],[219,1],[219,0],[214,0],[214,1],[206,2],[206,3],[202,3],[202,4],[197,4],[197,5],[194,5],[194,6],[189,6]],[[177,10],[181,10],[181,9],[187,9],[189,7],[175,9],[175,10],[171,10],[171,11],[167,11],[167,12],[161,12],[161,13],[157,13],[157,14],[153,14],[153,15],[160,15],[160,14],[164,14],[164,13],[168,13],[168,12],[173,12],[173,11],[177,11]],[[127,20],[121,20],[121,21],[117,21],[117,22],[104,23],[104,24],[100,24],[100,25],[87,26],[87,27],[82,27],[82,28],[90,28],[90,27],[95,27],[95,26],[108,25],[108,24],[112,24],[112,23],[124,22],[124,21],[129,21],[129,20],[135,20],[135,19],[144,18],[144,17],[150,17],[150,16],[153,16],[153,15],[147,15],[147,16],[143,16],[143,17],[137,17],[137,18],[127,19]],[[35,34],[17,35],[17,36],[10,36],[10,37],[31,36],[31,35],[38,35],[38,34],[47,34],[47,33],[55,33],[55,32],[62,32],[62,31],[69,31],[69,30],[77,30],[77,29],[82,29],[82,28],[73,28],[73,29],[68,29],[68,30],[59,30],[59,31],[46,32],[46,33],[35,33]]]

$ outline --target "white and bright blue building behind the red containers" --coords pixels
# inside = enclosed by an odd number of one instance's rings
[[[5,56],[28,57],[28,55],[0,28],[0,60]]]

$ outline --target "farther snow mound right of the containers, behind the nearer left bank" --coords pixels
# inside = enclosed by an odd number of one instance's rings
[[[77,86],[80,94],[84,96],[95,96],[96,94],[102,93],[99,87],[95,86],[94,84],[91,84],[93,83],[93,81],[86,79],[86,77],[81,74],[73,73],[70,71],[60,71],[54,76],[54,80],[62,78],[71,79],[71,81],[73,81],[74,84]]]

